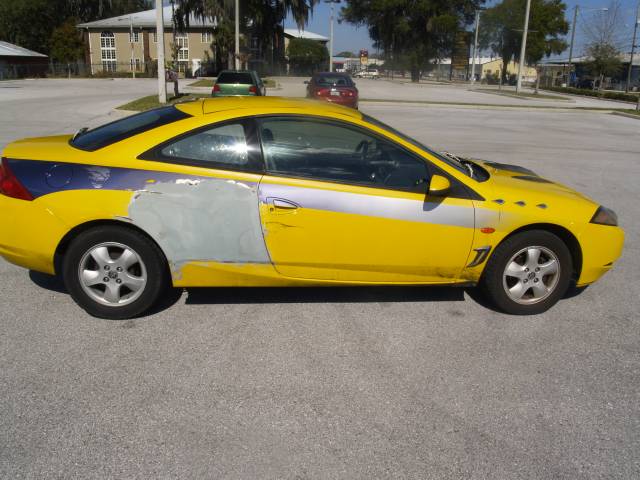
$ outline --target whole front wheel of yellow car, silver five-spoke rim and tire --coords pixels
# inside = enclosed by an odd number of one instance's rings
[[[482,276],[481,288],[500,310],[513,315],[545,312],[571,282],[573,265],[566,244],[544,230],[518,233],[501,243]]]

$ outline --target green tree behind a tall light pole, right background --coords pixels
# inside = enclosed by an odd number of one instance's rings
[[[480,46],[502,57],[502,76],[519,59],[526,0],[503,0],[482,14]],[[567,48],[563,37],[569,31],[562,0],[532,0],[525,61],[533,65]]]

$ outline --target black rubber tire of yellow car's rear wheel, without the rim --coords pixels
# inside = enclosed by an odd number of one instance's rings
[[[143,265],[145,275],[142,275],[141,278],[145,277],[146,283],[140,288],[137,298],[131,300],[130,303],[124,305],[102,304],[85,291],[86,287],[80,280],[81,262],[90,261],[85,260],[88,258],[89,252],[105,243],[121,244],[137,254],[141,262],[132,268],[139,269],[140,265]],[[96,271],[101,271],[98,269],[97,263],[95,268]],[[94,317],[110,320],[124,320],[143,314],[158,301],[169,285],[167,261],[158,246],[145,235],[133,229],[111,225],[92,228],[74,238],[64,255],[62,274],[67,290],[80,307]],[[121,275],[124,274],[121,273]],[[108,276],[104,278],[106,279]],[[122,280],[119,283],[122,283]],[[96,286],[98,291],[99,287],[100,285]],[[122,290],[119,289],[119,291]]]

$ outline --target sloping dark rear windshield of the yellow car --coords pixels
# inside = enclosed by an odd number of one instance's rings
[[[160,107],[107,123],[77,135],[71,145],[81,150],[94,151],[139,133],[185,119],[191,115],[176,107]]]

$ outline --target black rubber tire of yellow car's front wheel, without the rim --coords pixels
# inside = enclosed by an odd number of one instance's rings
[[[557,277],[551,275],[544,278],[536,276],[535,272],[529,272],[529,270],[523,272],[524,280],[517,280],[505,278],[505,270],[511,263],[513,257],[521,252],[523,249],[529,247],[542,247],[543,254],[547,255],[551,253],[559,263],[559,272]],[[544,253],[546,252],[546,253]],[[527,255],[522,253],[522,255]],[[549,257],[547,257],[549,258]],[[523,268],[526,265],[523,265]],[[542,273],[538,274],[542,275]],[[530,276],[531,278],[527,278]],[[567,245],[553,233],[545,230],[529,230],[513,235],[503,241],[493,252],[489,259],[487,266],[482,274],[480,282],[480,288],[484,296],[493,303],[499,310],[512,315],[536,315],[547,311],[553,305],[555,305],[567,292],[571,278],[573,276],[573,262],[571,259],[571,253],[567,248]],[[527,304],[519,303],[512,299],[507,292],[507,288],[510,287],[509,282],[519,283],[525,282],[521,285],[522,290],[526,290],[525,295],[529,295],[531,298],[523,296],[521,302],[530,302]],[[553,284],[553,288],[548,288],[547,296],[542,295],[539,300],[534,298],[533,282],[538,285],[543,283]],[[546,285],[545,285],[546,286]]]

